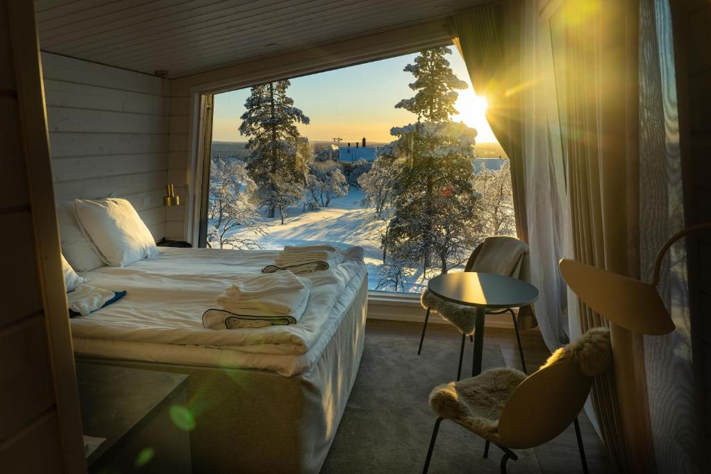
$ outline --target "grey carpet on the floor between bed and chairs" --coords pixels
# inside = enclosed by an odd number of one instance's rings
[[[346,411],[321,473],[419,473],[427,456],[437,416],[427,397],[437,384],[456,378],[459,343],[424,340],[422,354],[412,339],[368,334]],[[462,377],[471,375],[472,344],[467,340]],[[486,343],[483,368],[503,367],[501,349]],[[498,473],[501,451],[451,421],[443,421],[434,447],[430,473]],[[532,450],[518,450],[509,473],[540,473]]]

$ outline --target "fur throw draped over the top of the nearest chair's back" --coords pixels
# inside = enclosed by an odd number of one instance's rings
[[[577,362],[588,377],[596,377],[612,365],[612,344],[608,328],[592,328],[579,339],[553,352],[543,367],[567,358]]]

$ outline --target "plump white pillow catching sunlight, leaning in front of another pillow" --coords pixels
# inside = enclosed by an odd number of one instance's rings
[[[159,254],[151,231],[127,200],[77,199],[74,207],[85,237],[107,264],[126,266]]]

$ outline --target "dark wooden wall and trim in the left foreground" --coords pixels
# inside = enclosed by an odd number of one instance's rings
[[[0,0],[0,471],[81,473],[33,6]]]

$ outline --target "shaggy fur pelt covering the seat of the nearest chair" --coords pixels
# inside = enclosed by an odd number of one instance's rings
[[[476,377],[434,387],[429,394],[432,410],[456,419],[475,433],[496,433],[503,406],[526,376],[506,367],[486,370]]]

